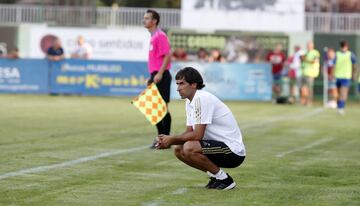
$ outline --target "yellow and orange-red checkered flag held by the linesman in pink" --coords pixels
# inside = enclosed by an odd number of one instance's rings
[[[155,83],[149,85],[131,102],[152,125],[160,122],[167,113],[167,106]]]

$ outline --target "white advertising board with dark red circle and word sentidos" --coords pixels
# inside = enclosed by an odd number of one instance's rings
[[[146,61],[150,33],[145,28],[69,28],[34,26],[29,29],[28,57],[44,58],[54,37],[62,42],[65,57],[76,49],[77,38],[83,36],[91,45],[90,59]]]

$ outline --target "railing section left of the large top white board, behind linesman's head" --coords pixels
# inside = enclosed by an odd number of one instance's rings
[[[139,26],[145,8],[24,6],[0,4],[0,24],[47,23],[57,26]],[[160,26],[179,28],[179,9],[157,9]]]

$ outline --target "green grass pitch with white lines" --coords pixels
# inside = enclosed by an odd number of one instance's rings
[[[225,169],[237,187],[172,150],[146,147],[155,127],[130,98],[0,95],[0,205],[360,205],[360,105],[232,102],[247,158]],[[185,128],[172,101],[172,132]]]

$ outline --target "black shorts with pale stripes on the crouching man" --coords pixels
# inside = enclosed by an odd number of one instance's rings
[[[223,142],[214,140],[200,141],[203,154],[218,167],[234,168],[243,163],[245,156],[233,153]]]

